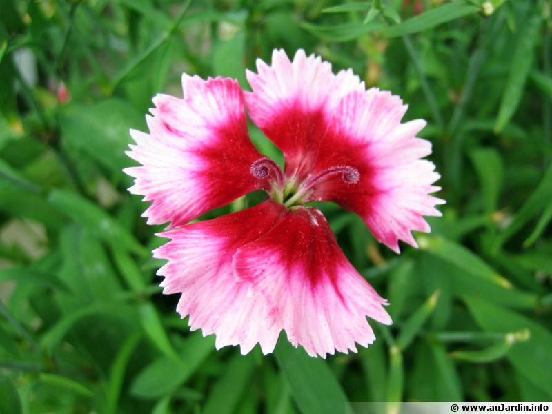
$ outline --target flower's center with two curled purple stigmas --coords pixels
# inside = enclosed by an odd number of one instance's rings
[[[284,204],[287,208],[302,206],[311,199],[311,195],[317,186],[324,185],[336,178],[341,178],[342,183],[353,186],[360,181],[360,171],[352,166],[335,166],[326,168],[315,176],[309,175],[300,184],[297,184],[295,177],[284,179],[282,170],[270,158],[257,159],[250,166],[253,177],[265,181],[264,189],[271,198]]]

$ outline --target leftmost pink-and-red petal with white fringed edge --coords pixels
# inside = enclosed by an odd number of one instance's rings
[[[148,224],[186,224],[259,186],[250,165],[262,155],[248,137],[237,81],[184,75],[183,83],[184,99],[154,98],[149,134],[130,131],[137,145],[127,154],[142,166],[125,172],[136,178],[130,192],[153,201]]]

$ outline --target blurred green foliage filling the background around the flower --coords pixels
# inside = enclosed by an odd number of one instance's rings
[[[350,401],[552,400],[549,0],[0,0],[0,412],[335,413]],[[322,206],[391,327],[312,359],[215,351],[163,296],[126,192],[129,128],[181,72],[315,52],[424,118],[444,217],[395,255]],[[266,155],[282,159],[251,126]],[[255,202],[244,197],[207,217]],[[339,405],[340,404],[340,405]],[[396,406],[389,404],[391,411]]]

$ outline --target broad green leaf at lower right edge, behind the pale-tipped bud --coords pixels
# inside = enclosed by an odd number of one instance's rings
[[[534,319],[482,299],[466,297],[464,302],[475,322],[485,331],[508,333],[529,330],[529,339],[518,342],[507,357],[517,371],[552,397],[552,334]]]

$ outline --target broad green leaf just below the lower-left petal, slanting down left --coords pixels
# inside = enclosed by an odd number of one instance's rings
[[[130,393],[146,400],[176,391],[201,366],[215,349],[213,336],[202,337],[193,333],[181,347],[180,358],[159,357],[138,373],[130,387]]]

